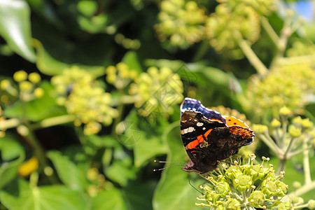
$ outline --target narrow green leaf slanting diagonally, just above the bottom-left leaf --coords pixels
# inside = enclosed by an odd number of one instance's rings
[[[59,179],[73,190],[85,190],[88,182],[86,174],[80,170],[69,157],[62,155],[58,151],[49,151],[47,157],[50,158],[52,164],[57,170]]]

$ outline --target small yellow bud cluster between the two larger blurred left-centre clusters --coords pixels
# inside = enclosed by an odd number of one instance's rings
[[[127,64],[120,62],[116,66],[109,66],[106,69],[106,81],[118,89],[123,89],[132,80],[137,78],[137,71],[130,69]]]

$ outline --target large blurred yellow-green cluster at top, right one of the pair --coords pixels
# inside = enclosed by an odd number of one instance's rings
[[[274,10],[274,1],[219,1],[216,12],[207,20],[210,45],[222,52],[228,50],[235,58],[242,56],[239,40],[255,43],[260,36],[260,18]],[[240,24],[241,23],[241,24]]]

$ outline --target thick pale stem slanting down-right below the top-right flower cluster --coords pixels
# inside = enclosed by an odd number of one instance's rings
[[[243,51],[244,55],[247,57],[248,61],[253,65],[256,71],[264,76],[268,69],[266,66],[260,61],[255,52],[251,49],[251,46],[248,45],[247,41],[245,41],[241,36],[237,38],[237,43],[239,44],[239,48]]]

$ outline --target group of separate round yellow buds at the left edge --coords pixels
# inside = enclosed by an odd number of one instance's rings
[[[36,73],[27,73],[26,71],[20,70],[13,74],[13,80],[18,83],[18,88],[11,84],[10,80],[1,80],[1,90],[6,90],[8,94],[14,97],[20,97],[21,100],[28,102],[35,98],[43,97],[43,89],[38,87],[41,82],[41,76]],[[1,102],[6,103],[8,95],[1,95]]]

